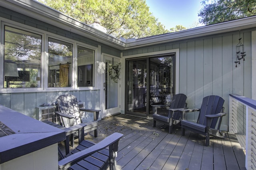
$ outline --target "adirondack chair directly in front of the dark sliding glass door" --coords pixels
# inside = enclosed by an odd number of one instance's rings
[[[177,94],[172,97],[170,103],[170,109],[168,110],[168,115],[160,115],[157,113],[153,114],[153,127],[156,127],[156,121],[169,126],[169,133],[172,133],[172,125],[178,124],[181,120],[179,109],[186,108],[187,96],[184,94]]]

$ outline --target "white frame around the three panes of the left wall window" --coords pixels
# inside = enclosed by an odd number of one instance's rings
[[[10,26],[19,30],[24,30],[34,34],[42,36],[42,53],[41,53],[41,85],[40,87],[33,88],[4,88],[4,26]],[[97,86],[97,77],[100,77],[100,73],[96,71],[97,61],[98,61],[98,47],[79,42],[70,38],[59,36],[38,28],[20,24],[14,21],[0,18],[0,93],[28,93],[28,92],[44,92],[44,91],[77,91],[77,90],[94,90],[98,89]],[[73,45],[73,54],[72,54],[72,74],[71,74],[71,85],[70,87],[48,87],[48,39],[53,38],[63,42],[71,43]],[[93,86],[91,87],[78,87],[78,65],[77,57],[78,50],[77,47],[84,47],[91,50],[94,50],[94,62],[93,62]]]

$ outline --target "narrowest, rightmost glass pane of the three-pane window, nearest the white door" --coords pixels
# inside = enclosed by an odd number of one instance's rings
[[[94,75],[94,50],[80,46],[78,46],[77,49],[78,87],[92,87]]]

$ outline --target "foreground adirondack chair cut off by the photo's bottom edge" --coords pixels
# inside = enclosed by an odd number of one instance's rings
[[[88,140],[82,141],[70,154],[65,157],[58,148],[60,170],[115,170],[118,142],[123,134],[115,132],[104,140],[95,144]]]

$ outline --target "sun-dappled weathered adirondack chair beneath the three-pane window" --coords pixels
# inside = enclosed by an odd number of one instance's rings
[[[100,110],[95,110],[95,109],[85,109],[85,108],[79,108],[77,99],[74,95],[60,95],[57,99],[58,102],[58,109],[59,111],[56,111],[56,115],[60,116],[60,121],[62,125],[66,128],[72,127],[74,125],[78,125],[82,123],[82,119],[80,116],[81,111],[85,112],[91,112],[94,114],[94,121],[90,123],[86,123],[86,127],[84,127],[84,133],[90,132],[94,130],[94,136],[98,137],[98,116]],[[76,135],[78,136],[78,135]],[[71,146],[74,145],[74,136],[71,135]]]

